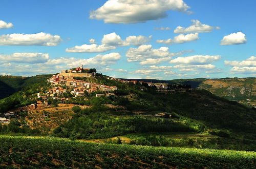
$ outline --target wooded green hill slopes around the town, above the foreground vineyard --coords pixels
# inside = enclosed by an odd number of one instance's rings
[[[163,93],[155,87],[122,83],[105,77],[79,80],[115,86],[118,90],[111,96],[104,95],[104,91],[96,91],[68,100],[49,98],[50,105],[31,108],[28,105],[39,99],[36,93],[46,95],[52,88],[46,81],[34,83],[0,100],[0,110],[15,111],[19,117],[11,120],[2,133],[38,134],[39,130],[44,135],[70,139],[110,140],[122,136],[131,138],[130,142],[138,145],[256,150],[255,111],[237,102],[204,90]],[[96,94],[103,96],[96,97]],[[59,94],[58,97],[64,96]],[[74,110],[74,113],[69,106],[72,104],[87,108]],[[157,114],[163,116],[157,117]],[[166,136],[173,132],[184,133],[184,138],[177,142]],[[139,138],[127,136],[140,133],[144,135]],[[187,139],[186,133],[209,137],[197,135],[197,138]]]

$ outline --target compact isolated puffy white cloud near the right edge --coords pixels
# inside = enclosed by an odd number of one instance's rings
[[[237,32],[224,36],[220,45],[240,45],[246,44],[246,41],[247,39],[245,38],[245,34]]]

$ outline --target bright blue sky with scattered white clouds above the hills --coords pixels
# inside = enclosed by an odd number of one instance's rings
[[[1,1],[0,75],[255,77],[255,1]],[[91,39],[91,40],[90,40]]]

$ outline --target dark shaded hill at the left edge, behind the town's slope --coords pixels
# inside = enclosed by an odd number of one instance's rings
[[[45,81],[51,75],[37,75],[32,77],[0,76],[0,99],[8,97],[34,83]]]

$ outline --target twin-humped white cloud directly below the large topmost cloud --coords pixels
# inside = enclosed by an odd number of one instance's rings
[[[151,40],[151,37],[145,37],[142,35],[139,36],[128,36],[125,40],[117,35],[115,32],[106,34],[102,38],[102,44],[110,45],[110,46],[140,46],[142,44],[148,43]]]

